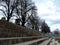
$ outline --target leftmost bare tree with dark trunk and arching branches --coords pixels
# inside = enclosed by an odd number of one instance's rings
[[[0,6],[3,6],[6,11],[4,11],[3,9],[0,9],[0,11],[5,14],[5,16],[7,17],[7,21],[9,21],[13,16],[14,9],[18,6],[18,0],[1,0],[1,2],[6,4],[0,4]]]

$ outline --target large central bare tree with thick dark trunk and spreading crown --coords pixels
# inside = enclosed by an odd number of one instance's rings
[[[19,16],[18,20],[20,20],[22,26],[25,26],[25,23],[28,20],[27,16],[34,7],[35,5],[31,0],[20,0],[20,5],[17,7],[17,14]]]

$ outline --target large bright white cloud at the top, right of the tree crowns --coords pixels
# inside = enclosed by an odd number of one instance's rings
[[[40,3],[39,5],[37,5],[38,8],[38,14],[54,14],[56,9],[55,9],[55,5],[52,1],[47,1],[45,3]]]

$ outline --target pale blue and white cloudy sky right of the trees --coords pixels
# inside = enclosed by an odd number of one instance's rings
[[[38,15],[46,21],[51,31],[60,29],[60,0],[33,0]]]

